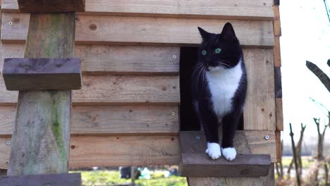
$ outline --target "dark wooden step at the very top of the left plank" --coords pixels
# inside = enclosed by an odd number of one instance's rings
[[[18,0],[18,10],[25,13],[83,12],[85,0]]]

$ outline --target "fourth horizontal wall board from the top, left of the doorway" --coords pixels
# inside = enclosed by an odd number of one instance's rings
[[[15,104],[18,92],[6,90],[0,77],[0,104]],[[82,89],[73,90],[74,104],[180,103],[179,76],[82,75]]]

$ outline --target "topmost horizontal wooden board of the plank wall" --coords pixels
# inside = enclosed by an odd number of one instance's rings
[[[235,18],[271,20],[273,1],[108,1],[86,0],[85,14],[103,16],[150,16],[185,18]],[[4,0],[1,11],[17,12],[17,1]]]

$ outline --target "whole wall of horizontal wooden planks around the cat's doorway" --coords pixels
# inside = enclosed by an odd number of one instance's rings
[[[228,21],[249,74],[244,128],[253,153],[275,162],[272,8],[271,0],[86,0],[76,19],[83,85],[73,91],[70,166],[178,164],[180,46],[200,44],[197,26],[220,32]],[[13,0],[3,0],[1,11],[0,70],[4,58],[23,57],[30,19]],[[0,95],[0,168],[6,168],[18,94],[6,91],[2,75]]]

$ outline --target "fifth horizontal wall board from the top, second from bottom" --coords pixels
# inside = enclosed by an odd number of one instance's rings
[[[16,106],[0,106],[0,135],[13,132]],[[73,106],[71,135],[179,132],[178,106]]]

